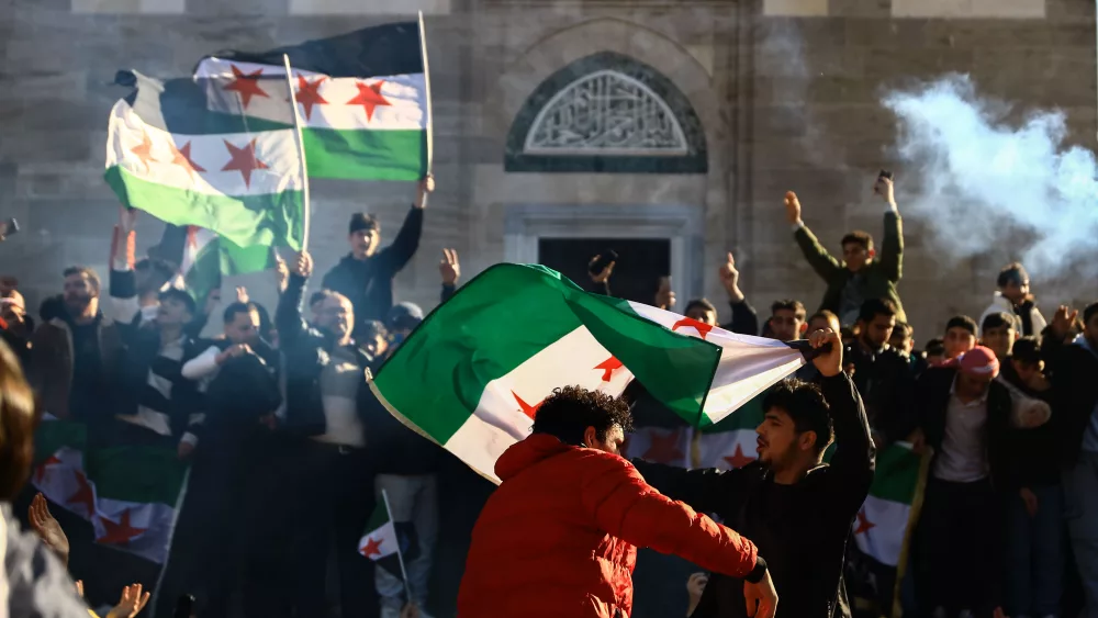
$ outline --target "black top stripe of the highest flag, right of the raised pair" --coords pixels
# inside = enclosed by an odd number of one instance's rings
[[[292,68],[322,72],[330,77],[423,72],[417,22],[378,25],[269,52],[249,53],[229,49],[212,56],[223,60],[281,67],[283,54],[290,56]]]

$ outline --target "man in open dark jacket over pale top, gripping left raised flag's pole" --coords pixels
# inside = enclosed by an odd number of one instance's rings
[[[377,616],[373,561],[358,554],[358,540],[373,512],[373,470],[366,448],[370,387],[369,356],[351,338],[355,307],[325,290],[315,326],[301,317],[302,294],[313,271],[306,251],[290,265],[290,280],[274,312],[285,358],[285,428],[300,437],[288,446],[295,486],[291,515],[294,558],[300,570],[298,616],[324,616],[329,532],[335,537],[344,616]],[[296,493],[293,493],[296,492]]]

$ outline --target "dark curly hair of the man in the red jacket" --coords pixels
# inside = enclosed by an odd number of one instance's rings
[[[606,432],[617,425],[632,431],[632,415],[625,400],[582,386],[553,389],[534,415],[534,432],[556,436],[565,445],[583,443],[583,432],[595,428],[595,437],[606,439]]]

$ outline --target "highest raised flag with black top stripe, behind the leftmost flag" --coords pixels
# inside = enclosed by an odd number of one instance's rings
[[[293,70],[311,177],[423,178],[429,93],[417,23],[203,58],[194,77],[205,85],[204,104],[211,111],[292,126],[283,54]]]

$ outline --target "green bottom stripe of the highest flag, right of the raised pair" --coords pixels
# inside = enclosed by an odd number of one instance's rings
[[[427,132],[303,128],[309,175],[349,180],[419,180],[427,173]]]

